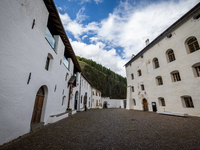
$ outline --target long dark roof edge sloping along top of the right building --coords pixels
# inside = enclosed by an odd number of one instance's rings
[[[171,32],[173,32],[179,26],[181,26],[189,18],[191,18],[192,15],[194,15],[195,13],[199,13],[199,11],[200,11],[199,9],[200,9],[200,2],[196,6],[194,6],[191,10],[189,10],[185,15],[183,15],[180,19],[178,19],[175,23],[173,23],[163,33],[161,33],[157,38],[155,38],[150,44],[148,44],[144,49],[142,49],[136,56],[131,58],[131,60],[128,61],[125,64],[125,66],[127,67],[130,63],[135,61],[137,58],[141,57],[147,50],[149,50],[151,47],[153,47],[155,44],[157,44],[159,41],[161,41],[163,38],[165,38],[167,35],[169,35]]]

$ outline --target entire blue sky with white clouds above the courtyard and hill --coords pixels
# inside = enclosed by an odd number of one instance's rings
[[[126,77],[124,65],[200,0],[54,0],[77,56]]]

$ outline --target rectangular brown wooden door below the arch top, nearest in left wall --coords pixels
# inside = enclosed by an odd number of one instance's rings
[[[36,95],[31,124],[40,122],[43,102],[44,102],[44,95]]]

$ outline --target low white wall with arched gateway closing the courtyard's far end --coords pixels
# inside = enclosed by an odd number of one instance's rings
[[[102,108],[126,108],[125,99],[110,99],[110,97],[101,97]]]

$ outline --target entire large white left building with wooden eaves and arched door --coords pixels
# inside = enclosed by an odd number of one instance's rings
[[[53,0],[1,0],[0,14],[1,145],[75,110],[81,68]]]

